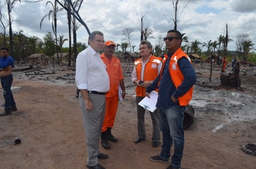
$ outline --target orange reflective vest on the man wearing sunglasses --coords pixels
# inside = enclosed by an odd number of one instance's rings
[[[163,65],[166,62],[167,57],[168,57],[168,55],[164,55],[164,59],[162,60]],[[175,84],[176,89],[181,85],[181,83],[184,79],[184,76],[182,75],[182,72],[180,71],[179,65],[177,64],[178,60],[182,57],[185,57],[188,60],[190,60],[190,58],[187,56],[187,54],[185,52],[183,52],[181,47],[180,47],[172,55],[172,58],[169,62],[169,75],[171,76],[172,82]],[[191,63],[191,60],[190,60],[190,63]],[[163,67],[162,67],[162,70],[160,72],[161,73],[160,78],[162,77]],[[178,98],[180,106],[187,106],[187,104],[192,99],[192,95],[193,95],[193,86],[190,88],[189,91],[187,91],[187,93],[185,93],[183,96],[180,96]]]

